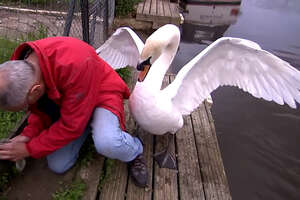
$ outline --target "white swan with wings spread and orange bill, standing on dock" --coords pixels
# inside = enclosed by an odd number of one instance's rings
[[[146,131],[175,134],[210,93],[222,85],[237,86],[257,98],[296,108],[300,102],[300,72],[252,41],[224,37],[209,45],[182,67],[161,90],[164,75],[177,52],[180,32],[175,25],[155,31],[145,45],[129,28],[120,28],[97,52],[113,67],[127,64],[142,70],[129,106]],[[124,45],[124,46],[123,46]],[[296,101],[296,102],[295,102]],[[163,156],[163,157],[162,157]],[[162,167],[174,168],[168,150],[157,156]]]

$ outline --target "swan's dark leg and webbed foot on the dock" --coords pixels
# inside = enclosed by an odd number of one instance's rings
[[[154,154],[154,159],[161,168],[177,169],[176,159],[170,153],[170,143],[173,141],[174,134],[168,133],[168,144],[165,150]]]

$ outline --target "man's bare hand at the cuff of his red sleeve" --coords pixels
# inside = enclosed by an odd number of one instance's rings
[[[2,160],[18,161],[28,156],[25,142],[16,142],[12,139],[8,143],[0,144],[0,159]]]

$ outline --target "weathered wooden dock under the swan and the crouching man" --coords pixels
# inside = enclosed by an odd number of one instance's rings
[[[165,76],[163,85],[174,77]],[[128,112],[127,103],[125,109],[127,129],[132,133],[136,123]],[[88,166],[74,167],[65,175],[50,172],[45,160],[30,160],[22,176],[14,180],[6,194],[7,199],[50,200],[61,183],[68,184],[81,178],[87,185],[84,200],[231,200],[208,103],[184,118],[184,127],[172,141],[178,170],[159,168],[153,160],[153,154],[166,145],[165,136],[153,136],[144,131],[140,136],[145,143],[149,170],[146,189],[133,184],[126,163],[114,161],[108,168],[107,159],[97,155]],[[30,182],[34,182],[34,187]]]

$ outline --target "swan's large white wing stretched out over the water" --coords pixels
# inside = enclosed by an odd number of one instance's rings
[[[296,108],[300,72],[252,41],[221,38],[195,56],[162,92],[189,114],[219,86],[237,86],[254,97]]]

